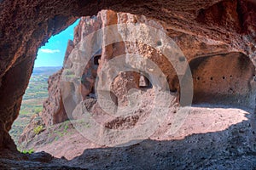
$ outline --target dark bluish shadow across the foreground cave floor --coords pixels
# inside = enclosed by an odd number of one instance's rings
[[[31,161],[0,159],[0,167],[85,168],[85,169],[256,169],[256,152],[250,149],[251,114],[247,120],[212,133],[194,133],[184,139],[152,140],[126,147],[84,150],[71,161],[34,159]],[[44,155],[44,154],[43,154]],[[43,158],[45,161],[45,159]],[[39,162],[40,161],[40,162]]]

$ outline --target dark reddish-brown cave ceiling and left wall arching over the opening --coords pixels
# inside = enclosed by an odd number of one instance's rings
[[[0,1],[0,148],[14,148],[8,132],[18,116],[38,48],[75,19],[96,14],[102,8],[159,20],[189,60],[241,52],[255,65],[256,10],[251,0],[193,3],[3,0]],[[102,52],[102,56],[106,53]]]

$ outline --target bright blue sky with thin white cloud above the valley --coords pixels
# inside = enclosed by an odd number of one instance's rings
[[[69,39],[73,40],[73,29],[78,24],[79,20],[67,27],[66,30],[61,31],[61,33],[50,37],[48,42],[38,49],[38,56],[34,66],[62,66],[67,41]]]

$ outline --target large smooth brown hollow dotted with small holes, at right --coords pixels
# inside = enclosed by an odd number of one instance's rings
[[[192,59],[194,104],[253,107],[255,67],[246,54],[230,53]]]

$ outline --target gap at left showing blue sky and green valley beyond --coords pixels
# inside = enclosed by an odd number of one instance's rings
[[[55,117],[54,122],[58,122],[61,120],[61,116],[65,116],[65,111],[61,113],[61,110],[63,110],[61,106],[59,108],[55,106],[58,105],[58,99],[47,98],[49,93],[55,95],[61,93],[61,88],[56,84],[55,79],[61,76],[67,42],[68,39],[73,39],[73,28],[78,25],[78,22],[76,21],[58,35],[50,37],[49,42],[38,49],[32,76],[26,88],[26,93],[23,95],[20,114],[9,132],[12,139],[15,140],[18,150],[22,152],[37,150],[28,143],[33,138],[37,138],[45,129],[43,119],[47,115],[40,116],[43,110],[45,114],[49,114],[48,116],[52,111],[59,110],[59,116]],[[45,110],[45,107],[49,108],[49,105],[52,106],[52,109]]]

